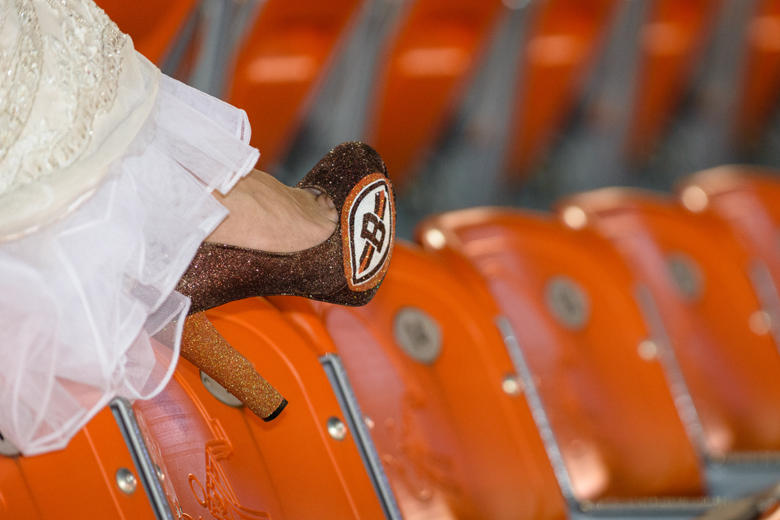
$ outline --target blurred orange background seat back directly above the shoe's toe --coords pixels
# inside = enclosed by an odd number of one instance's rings
[[[443,130],[501,10],[500,0],[414,0],[379,75],[368,139],[396,189]]]

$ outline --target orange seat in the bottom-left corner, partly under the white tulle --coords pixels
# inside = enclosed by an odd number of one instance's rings
[[[140,480],[130,495],[117,486],[120,468],[138,479],[114,416],[104,408],[64,450],[34,457],[0,455],[0,518],[154,520]]]

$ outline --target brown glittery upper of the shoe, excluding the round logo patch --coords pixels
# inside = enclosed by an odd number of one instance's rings
[[[298,183],[327,193],[340,212],[352,188],[365,177],[387,169],[379,154],[358,142],[344,143],[326,155]],[[387,181],[389,185],[389,180]],[[392,186],[390,208],[395,222]],[[393,226],[394,227],[394,226]],[[391,232],[394,233],[394,229]],[[392,248],[392,237],[389,237]],[[341,305],[368,303],[379,288],[390,263],[390,252],[368,290],[350,290],[345,278],[345,245],[341,224],[322,244],[297,253],[266,253],[230,245],[204,243],[176,290],[192,300],[191,313],[252,296],[291,295]]]

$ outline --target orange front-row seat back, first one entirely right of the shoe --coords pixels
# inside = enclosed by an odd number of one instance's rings
[[[704,493],[663,369],[640,356],[649,331],[633,277],[606,241],[497,209],[445,213],[417,236],[459,274],[468,260],[512,322],[578,499]],[[546,303],[547,284],[560,276],[586,295],[580,328],[562,325]]]

